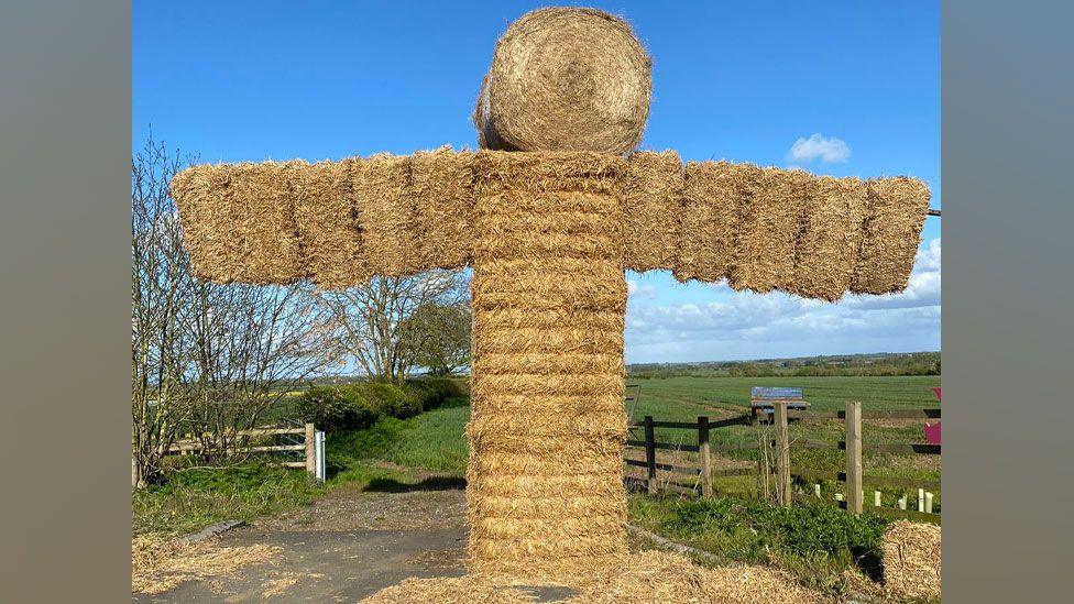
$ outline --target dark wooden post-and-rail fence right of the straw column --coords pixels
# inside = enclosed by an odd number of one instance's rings
[[[645,460],[636,460],[626,458],[625,463],[627,466],[636,466],[645,469],[644,483],[646,488],[650,493],[658,491],[671,491],[678,493],[697,493],[697,487],[684,485],[681,482],[671,480],[668,476],[675,475],[686,475],[694,479],[695,483],[699,483],[701,490],[701,496],[709,497],[713,494],[713,479],[724,477],[724,476],[749,476],[757,475],[758,477],[766,477],[769,472],[767,464],[764,462],[765,455],[770,454],[774,460],[771,465],[775,466],[776,474],[776,490],[775,495],[777,502],[781,505],[790,505],[794,499],[794,494],[792,492],[792,477],[797,476],[802,480],[832,480],[845,485],[844,492],[845,497],[839,501],[839,506],[853,513],[861,514],[865,508],[865,485],[878,485],[878,486],[892,486],[898,488],[918,488],[919,501],[923,499],[925,495],[925,490],[930,490],[928,493],[931,499],[931,492],[940,491],[940,481],[931,480],[919,480],[919,479],[906,479],[897,476],[884,476],[877,474],[866,473],[862,464],[862,454],[866,449],[876,452],[887,452],[887,453],[901,453],[901,454],[929,454],[939,455],[940,446],[939,444],[925,444],[925,443],[869,443],[863,444],[862,442],[862,421],[863,419],[918,419],[918,418],[939,418],[939,408],[928,408],[928,409],[912,409],[912,410],[890,410],[890,411],[863,411],[861,403],[847,403],[845,410],[841,411],[813,411],[813,410],[789,410],[787,408],[786,402],[778,402],[775,405],[772,414],[772,428],[775,432],[775,439],[768,442],[764,442],[765,438],[758,438],[756,442],[745,442],[735,444],[724,444],[724,446],[713,446],[710,442],[711,432],[714,429],[724,428],[728,426],[738,425],[749,425],[753,422],[754,418],[750,415],[743,415],[741,417],[734,417],[730,419],[722,419],[719,421],[712,421],[708,417],[699,417],[694,421],[657,421],[653,416],[645,416],[643,421],[631,422],[631,433],[627,438],[626,446],[628,449],[639,450],[645,452]],[[818,440],[799,440],[791,441],[789,437],[788,422],[789,420],[799,421],[814,421],[814,420],[841,420],[845,425],[845,438],[840,441],[818,441]],[[642,435],[637,433],[637,429],[640,428]],[[687,430],[697,433],[697,444],[692,443],[668,443],[658,442],[656,440],[655,430],[656,428],[670,428],[677,430]],[[758,432],[760,435],[760,432]],[[758,463],[756,468],[734,468],[728,470],[714,470],[712,454],[720,452],[732,452],[732,451],[745,451],[745,450],[761,450],[769,448],[767,451],[761,451],[763,454],[758,455]],[[794,447],[801,447],[803,449],[832,449],[845,451],[846,465],[843,472],[821,472],[814,471],[808,468],[796,468],[791,466],[790,463],[790,450],[792,444]],[[697,453],[697,465],[687,463],[661,463],[657,460],[657,451],[681,451],[689,453]],[[658,480],[657,472],[664,472],[666,480]],[[874,501],[874,503],[876,503]],[[901,499],[900,503],[906,505],[906,499]],[[881,515],[892,516],[892,517],[905,517],[916,520],[924,520],[939,523],[940,514],[933,514],[931,510],[921,510],[922,504],[919,503],[919,509],[903,509],[903,508],[892,508],[883,507],[878,505],[869,506],[869,509]],[[929,506],[931,507],[931,505]]]

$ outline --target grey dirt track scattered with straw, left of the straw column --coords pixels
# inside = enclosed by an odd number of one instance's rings
[[[313,506],[233,529],[221,548],[278,548],[265,562],[187,581],[134,602],[357,602],[408,576],[463,573],[460,481],[426,479],[388,492],[336,491]]]

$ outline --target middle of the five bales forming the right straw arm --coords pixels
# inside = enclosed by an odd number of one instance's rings
[[[802,231],[813,176],[763,168],[742,178],[743,191],[728,278],[735,289],[771,292],[794,281],[794,248]]]

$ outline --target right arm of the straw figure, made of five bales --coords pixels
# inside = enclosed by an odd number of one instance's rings
[[[625,262],[681,282],[727,278],[837,300],[907,286],[929,189],[907,177],[833,178],[672,152],[636,153],[624,187]]]

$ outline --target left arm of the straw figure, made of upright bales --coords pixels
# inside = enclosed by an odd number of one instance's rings
[[[171,188],[195,275],[333,289],[469,263],[472,156],[205,164]]]

